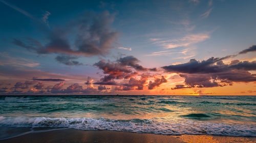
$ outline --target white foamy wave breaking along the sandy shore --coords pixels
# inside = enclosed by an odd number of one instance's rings
[[[228,136],[256,136],[255,125],[205,122],[156,122],[152,120],[113,120],[93,118],[0,117],[4,127],[61,127],[78,130],[113,130],[164,135],[208,134]]]

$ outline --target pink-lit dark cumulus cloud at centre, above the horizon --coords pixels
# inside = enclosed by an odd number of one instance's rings
[[[138,64],[139,60],[134,56],[125,56],[123,58],[119,58],[116,62],[110,62],[101,60],[98,63],[95,63],[94,66],[98,67],[103,71],[104,77],[102,77],[99,81],[94,82],[93,84],[100,85],[117,85],[115,87],[116,91],[130,91],[130,90],[143,90],[146,81],[150,75],[139,74],[139,71],[156,71],[156,68],[147,69]],[[136,76],[140,76],[140,78],[135,78]],[[116,79],[129,79],[127,82],[117,82]],[[159,80],[159,81],[158,81]],[[157,82],[161,82],[164,79],[157,79]],[[165,81],[166,80],[166,81]],[[159,86],[161,83],[151,83],[151,87],[154,88]],[[154,85],[153,85],[154,84]]]

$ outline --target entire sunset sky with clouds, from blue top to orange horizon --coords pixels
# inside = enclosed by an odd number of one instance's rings
[[[255,5],[0,0],[0,95],[256,95]]]

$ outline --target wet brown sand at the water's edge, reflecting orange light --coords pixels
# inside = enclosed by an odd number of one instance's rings
[[[158,135],[118,131],[83,131],[74,129],[29,133],[0,142],[256,142],[256,137],[232,137],[213,135]]]

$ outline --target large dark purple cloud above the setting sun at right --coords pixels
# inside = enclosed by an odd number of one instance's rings
[[[228,57],[228,56],[226,56]],[[162,67],[166,72],[179,73],[185,78],[186,85],[178,85],[173,89],[210,88],[232,85],[232,82],[256,81],[256,77],[248,71],[256,70],[256,61],[239,60],[224,64],[225,58],[210,58],[206,61],[190,60],[188,63]]]

